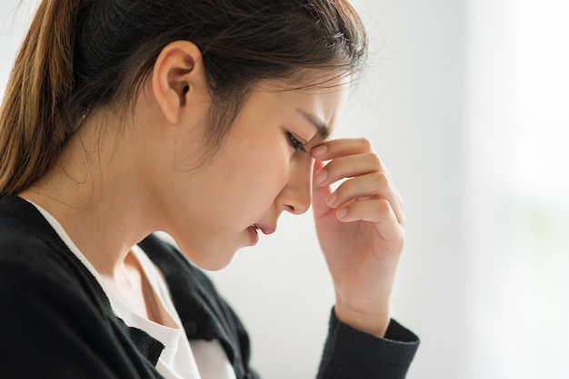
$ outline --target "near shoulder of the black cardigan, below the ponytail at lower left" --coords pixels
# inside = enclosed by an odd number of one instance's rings
[[[15,197],[0,199],[0,304],[0,376],[136,377],[95,277]]]

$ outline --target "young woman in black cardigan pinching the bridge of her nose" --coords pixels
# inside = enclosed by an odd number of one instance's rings
[[[257,377],[197,267],[312,204],[318,376],[404,377],[401,200],[368,141],[328,140],[365,49],[343,0],[44,0],[0,114],[0,375]]]

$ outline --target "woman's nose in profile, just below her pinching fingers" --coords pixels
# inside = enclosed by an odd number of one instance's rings
[[[310,208],[312,202],[312,158],[291,167],[291,173],[276,201],[284,209],[300,215]]]

